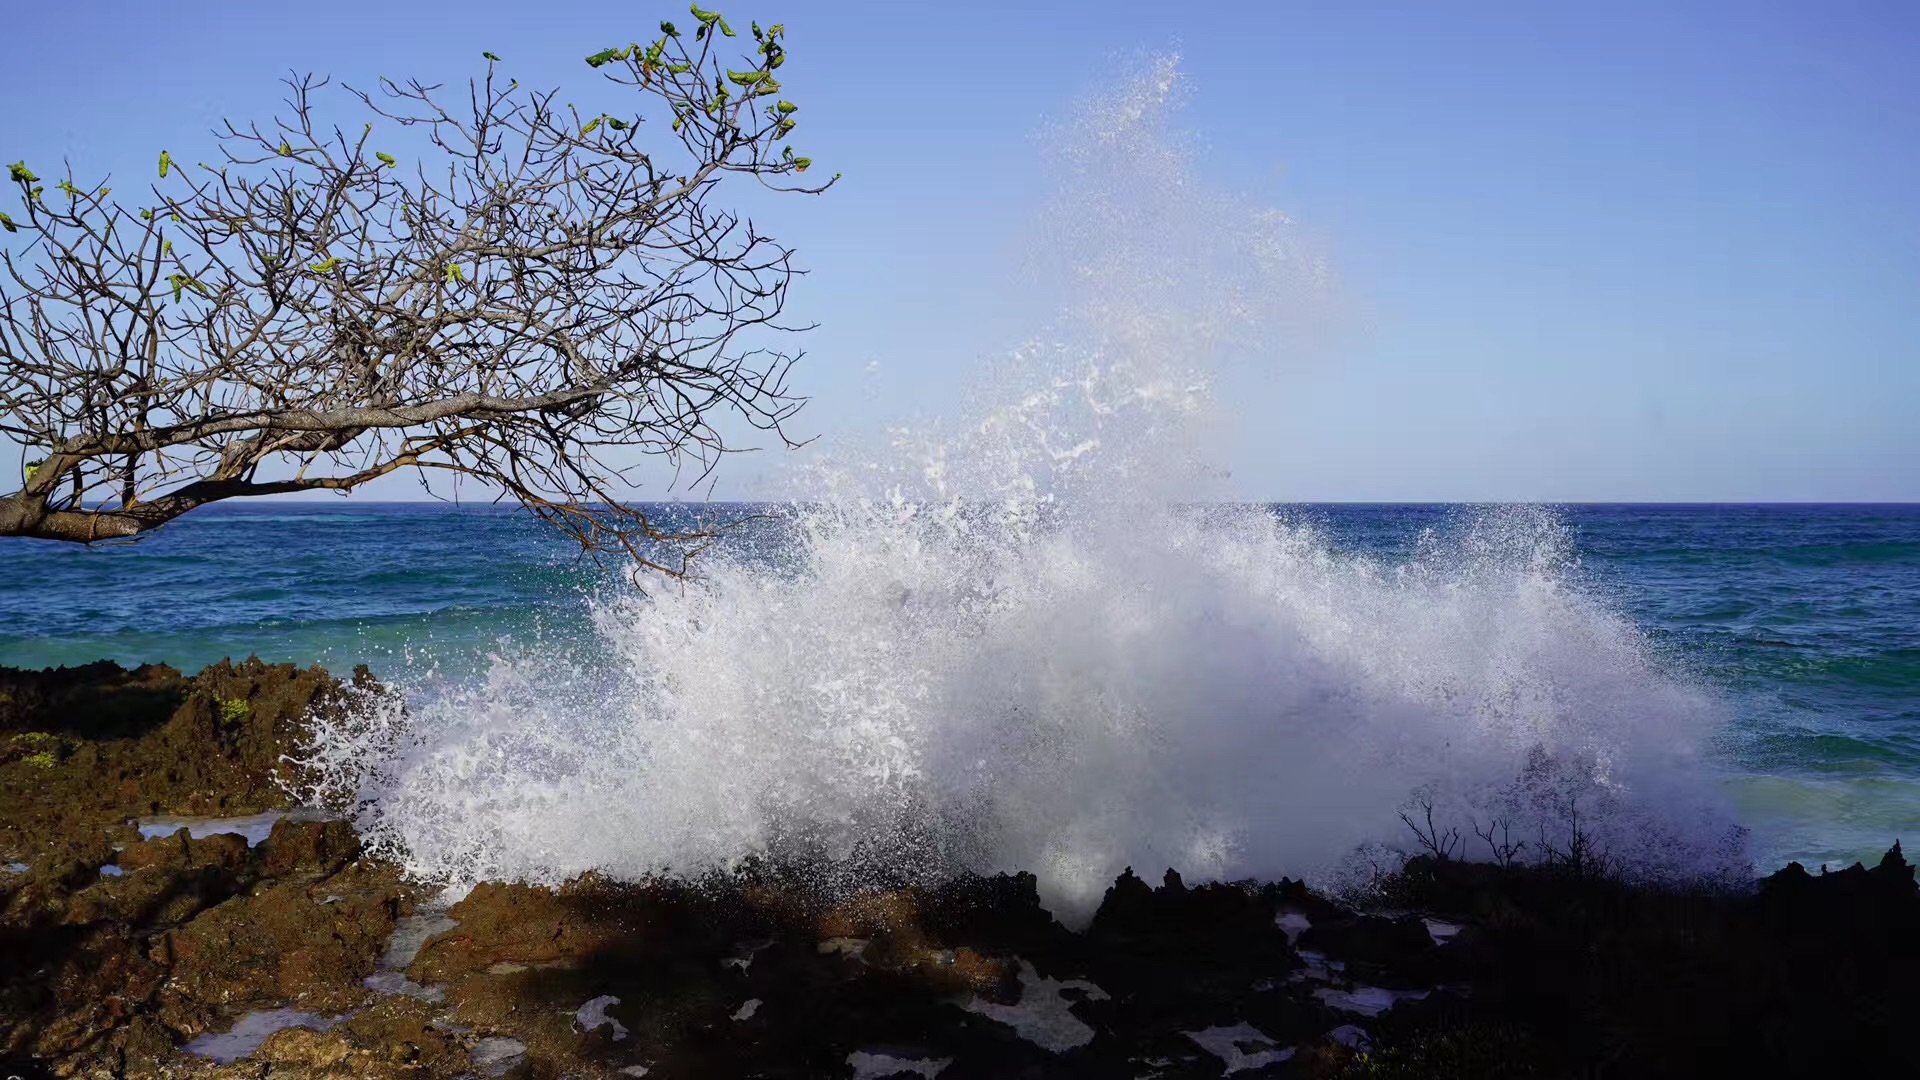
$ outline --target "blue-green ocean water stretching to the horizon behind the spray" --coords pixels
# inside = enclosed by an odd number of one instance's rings
[[[1476,513],[1269,509],[1329,552],[1388,571]],[[1638,628],[1663,676],[1720,709],[1703,769],[1755,830],[1757,865],[1851,863],[1912,838],[1920,505],[1549,513],[1571,542],[1557,571],[1567,588]],[[778,523],[749,523],[720,550],[751,546],[778,563],[781,536]],[[511,509],[228,503],[136,544],[0,540],[0,665],[113,659],[196,671],[259,655],[340,673],[365,663],[413,694],[434,694],[486,680],[507,653],[563,653],[582,669],[616,663],[595,611],[630,590]]]

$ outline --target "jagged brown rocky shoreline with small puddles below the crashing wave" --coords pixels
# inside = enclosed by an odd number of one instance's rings
[[[338,707],[257,661],[0,671],[0,1076],[1920,1074],[1897,846],[1745,892],[1415,859],[1365,911],[1129,871],[1085,932],[1029,876],[442,907],[275,784]]]

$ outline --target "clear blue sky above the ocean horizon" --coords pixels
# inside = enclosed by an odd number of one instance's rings
[[[812,271],[806,432],[939,413],[1033,329],[1008,267],[1044,196],[1035,133],[1177,50],[1198,171],[1288,211],[1340,279],[1331,327],[1229,377],[1235,494],[1920,500],[1920,4],[720,10],[787,23],[801,150],[845,171],[760,215]],[[582,56],[682,15],[13,4],[0,158],[142,183],[159,148],[267,117],[288,69],[459,81],[493,50],[588,85]]]

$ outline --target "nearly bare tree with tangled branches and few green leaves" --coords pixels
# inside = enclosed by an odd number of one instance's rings
[[[290,77],[280,117],[223,125],[217,163],[161,154],[140,204],[13,165],[0,436],[25,452],[0,536],[131,538],[415,469],[684,569],[701,534],[626,503],[630,469],[707,477],[735,450],[720,427],[787,442],[801,405],[770,334],[801,329],[793,252],[714,192],[831,186],[785,142],[783,29],[749,44],[693,13],[588,58],[636,111],[588,115],[488,54],[465,92],[344,88],[346,127],[324,79]]]

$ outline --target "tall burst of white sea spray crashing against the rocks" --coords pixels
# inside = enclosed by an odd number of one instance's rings
[[[1578,821],[1626,872],[1736,867],[1699,773],[1720,709],[1576,586],[1551,513],[1386,561],[1217,502],[1215,365],[1327,275],[1284,215],[1204,188],[1177,92],[1156,61],[1054,133],[1077,300],[968,421],[822,459],[772,553],[603,596],[611,665],[516,651],[321,719],[309,794],[436,880],[1033,871],[1068,920],[1129,865],[1404,846],[1409,798],[1473,844],[1469,817],[1507,821],[1523,857]]]

